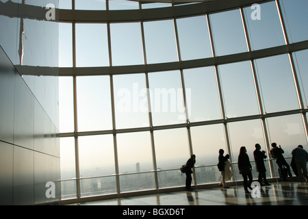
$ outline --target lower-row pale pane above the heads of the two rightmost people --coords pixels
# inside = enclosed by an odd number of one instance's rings
[[[267,118],[266,121],[270,133],[270,144],[276,142],[277,145],[281,145],[285,151],[284,157],[292,157],[291,153],[298,144],[307,149],[307,138],[300,114]]]

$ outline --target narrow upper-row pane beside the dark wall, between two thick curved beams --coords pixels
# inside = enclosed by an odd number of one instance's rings
[[[72,24],[59,23],[59,66],[73,66]]]

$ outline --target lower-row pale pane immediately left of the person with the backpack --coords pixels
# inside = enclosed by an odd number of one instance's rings
[[[154,131],[154,141],[158,170],[179,168],[190,158],[185,128]]]

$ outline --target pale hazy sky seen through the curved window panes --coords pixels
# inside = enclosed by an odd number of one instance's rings
[[[85,3],[86,4],[83,4]],[[308,3],[305,0],[283,0],[283,16],[287,15],[290,42],[308,40]],[[129,3],[129,8],[136,7]],[[104,1],[77,1],[77,9],[105,10]],[[110,8],[119,9],[120,3],[112,1]],[[60,8],[69,8],[60,1]],[[285,44],[274,1],[263,3],[261,20],[253,21],[250,7],[244,8],[248,24],[248,36],[253,50],[277,47]],[[248,51],[240,10],[231,10],[209,16],[214,36],[216,55],[227,55]],[[300,21],[300,22],[298,22]],[[179,49],[181,60],[212,57],[207,19],[205,16],[178,18]],[[60,24],[60,66],[72,66],[71,24]],[[112,64],[144,64],[140,23],[111,23]],[[176,62],[177,44],[174,21],[144,22],[146,60],[148,64]],[[107,25],[77,24],[77,66],[109,66],[107,47]],[[307,92],[307,51],[296,54],[296,64],[300,70],[301,89]],[[261,90],[262,103],[266,112],[279,112],[298,108],[292,70],[287,55],[255,60],[257,80]],[[259,114],[257,96],[251,62],[238,62],[218,66],[222,84],[223,101],[228,118]],[[222,118],[218,96],[216,72],[213,66],[183,70],[186,99],[189,100],[188,113],[191,122]],[[183,94],[179,70],[149,73],[151,110],[153,125],[185,123],[183,117]],[[114,76],[114,99],[116,106],[116,128],[149,127],[148,103],[145,96],[145,75]],[[155,93],[156,89],[156,93]],[[160,96],[158,95],[160,92]],[[168,97],[164,105],[164,96]],[[165,97],[166,97],[165,96]],[[306,98],[306,97],[305,97]],[[79,131],[112,129],[110,77],[77,77],[77,112]],[[306,100],[306,99],[305,99]],[[155,102],[156,101],[156,102]],[[158,103],[162,105],[158,105]],[[307,101],[305,101],[307,105]],[[176,107],[172,108],[172,105]],[[162,106],[168,112],[163,112]],[[156,112],[155,106],[161,111]],[[171,112],[171,109],[176,109]],[[144,111],[145,110],[145,111]],[[285,146],[286,155],[298,144],[307,146],[303,122],[300,115],[268,118],[270,142]],[[261,120],[229,123],[231,156],[237,161],[240,146],[246,146],[253,160],[255,143],[265,149],[264,131]],[[73,82],[71,78],[60,78],[60,132],[73,132]],[[223,125],[192,127],[192,148],[197,155],[197,164],[208,164],[207,157],[218,157],[220,148],[226,149]],[[64,140],[63,140],[64,141]],[[179,168],[168,166],[172,160],[189,157],[186,129],[154,131],[157,168]],[[70,140],[70,143],[73,142]],[[88,136],[79,138],[80,165],[83,168],[103,168],[114,164],[112,136]],[[142,170],[152,170],[152,149],[149,132],[117,135],[119,171],[136,171],[136,163]],[[64,155],[62,149],[62,155]],[[72,149],[70,149],[72,151]],[[226,150],[225,150],[226,151]],[[72,166],[74,157],[64,155],[62,165]],[[107,170],[106,170],[107,172]],[[86,173],[84,173],[86,175]]]

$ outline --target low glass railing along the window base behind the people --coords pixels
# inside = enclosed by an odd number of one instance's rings
[[[290,164],[291,157],[285,158]],[[279,178],[278,166],[276,159],[265,159],[266,177],[268,179]],[[231,181],[242,181],[242,175],[238,171],[238,163],[231,164],[233,168],[233,179]],[[258,173],[255,168],[255,162],[251,162],[253,166],[253,179],[257,179]],[[292,168],[291,168],[292,169]],[[156,190],[155,173],[158,179],[158,189],[179,188],[185,186],[185,174],[182,174],[179,168],[171,168],[166,170],[151,170],[146,172],[129,172],[114,175],[106,175],[99,177],[81,177],[79,179],[61,180],[62,200],[77,198],[76,181],[80,182],[80,197],[103,196],[108,194],[118,194],[116,177],[120,183],[120,193],[140,192],[147,190]],[[221,173],[218,171],[216,164],[194,167],[195,185],[206,185],[219,183],[221,181]]]

